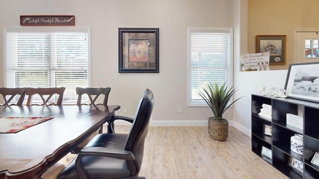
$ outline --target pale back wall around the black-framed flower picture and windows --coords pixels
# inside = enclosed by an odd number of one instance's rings
[[[153,125],[207,125],[207,107],[187,107],[187,27],[232,27],[233,0],[0,0],[0,34],[20,27],[20,15],[75,15],[91,28],[91,87],[111,87],[116,113],[134,116],[144,89],[152,89]],[[160,28],[160,73],[118,73],[118,28]],[[69,28],[72,28],[69,27]],[[0,36],[0,87],[3,80]],[[178,113],[178,107],[183,113]],[[226,118],[232,120],[232,112]]]

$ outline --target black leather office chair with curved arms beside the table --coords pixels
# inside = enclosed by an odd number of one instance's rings
[[[57,179],[145,179],[139,173],[153,105],[153,93],[146,89],[130,132],[96,135]]]

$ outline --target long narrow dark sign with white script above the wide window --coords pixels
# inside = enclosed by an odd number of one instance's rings
[[[75,16],[20,15],[20,25],[75,25]]]

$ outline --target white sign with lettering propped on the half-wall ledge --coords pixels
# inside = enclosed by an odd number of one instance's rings
[[[245,69],[258,69],[260,66],[269,65],[269,52],[246,54],[244,56],[244,68]]]

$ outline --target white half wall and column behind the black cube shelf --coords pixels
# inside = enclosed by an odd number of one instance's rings
[[[251,136],[251,94],[259,93],[265,86],[284,88],[287,70],[241,72],[239,57],[248,52],[248,0],[234,0],[234,98],[232,125]],[[270,66],[272,68],[273,66]]]

